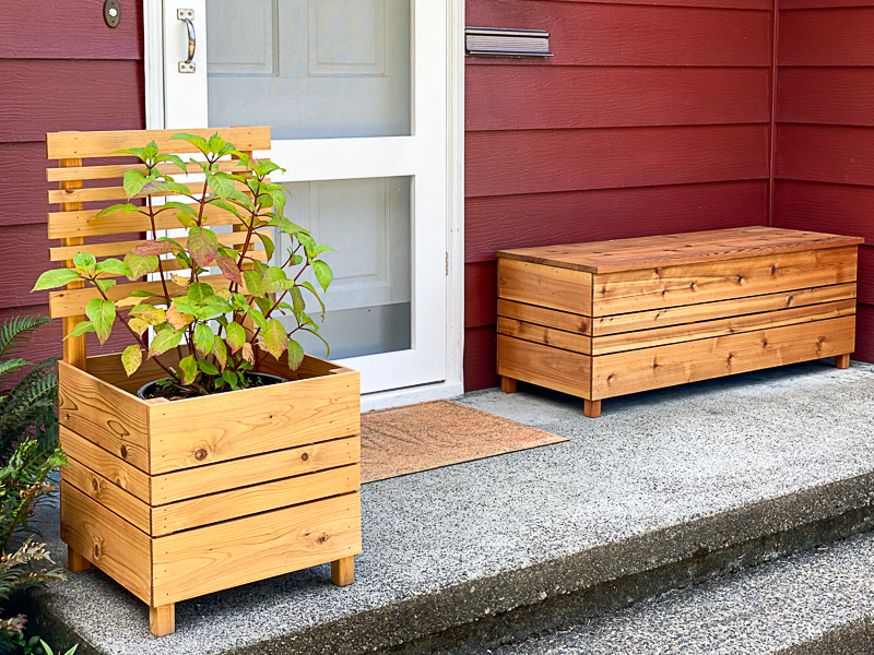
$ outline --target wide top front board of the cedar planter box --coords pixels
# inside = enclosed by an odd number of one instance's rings
[[[150,473],[245,457],[361,430],[351,371],[149,407]]]

